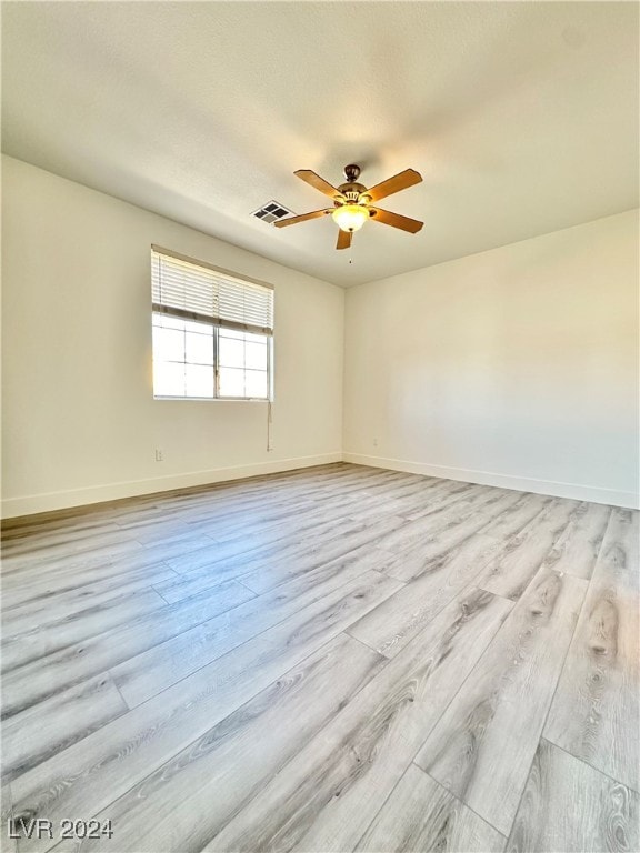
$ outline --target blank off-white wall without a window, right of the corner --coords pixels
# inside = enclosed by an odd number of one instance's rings
[[[638,249],[630,211],[348,291],[344,459],[637,505]]]

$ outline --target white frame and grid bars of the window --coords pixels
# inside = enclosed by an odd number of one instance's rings
[[[223,270],[221,268],[213,267],[212,264],[206,262],[206,261],[198,261],[193,258],[189,258],[183,254],[179,254],[178,252],[173,252],[168,249],[161,249],[157,245],[151,245],[151,281],[153,282],[153,263],[156,261],[154,255],[164,255],[169,259],[176,259],[178,261],[182,261],[196,267],[199,267],[204,270],[210,270],[213,273],[221,275],[221,277],[230,277],[231,279],[234,279],[239,282],[247,282],[249,284],[257,284],[261,288],[264,288],[267,290],[272,291],[271,297],[271,311],[273,311],[273,299],[274,299],[274,288],[272,284],[268,284],[267,282],[258,281],[257,279],[250,279],[249,277],[241,275],[236,272],[231,272],[230,270]],[[153,290],[153,288],[152,288]],[[156,359],[156,348],[153,344],[153,340],[151,341],[151,360],[152,360],[152,377],[151,377],[151,384],[152,384],[152,394],[153,400],[162,401],[176,401],[176,400],[191,400],[193,402],[236,402],[236,403],[271,403],[273,402],[273,323],[271,323],[271,330],[270,332],[258,330],[254,328],[246,327],[242,328],[241,323],[224,323],[221,322],[219,318],[211,317],[210,319],[203,314],[196,313],[188,311],[186,309],[180,308],[172,308],[171,305],[166,305],[162,303],[156,303],[153,301],[153,298],[151,299],[151,331],[157,328],[156,327],[156,317],[171,317],[174,320],[180,320],[184,323],[187,322],[197,322],[202,323],[203,325],[209,325],[211,328],[212,333],[212,345],[213,345],[213,364],[212,365],[201,365],[201,367],[211,367],[211,371],[213,374],[213,397],[199,397],[199,395],[191,395],[191,394],[158,394],[156,392],[156,370],[154,365],[157,361]],[[267,369],[266,371],[253,369],[257,372],[264,373],[266,374],[266,383],[267,383],[267,395],[266,397],[227,397],[220,394],[220,333],[224,331],[234,332],[238,334],[254,334],[256,337],[264,338],[264,347],[266,347],[266,355],[267,355]],[[187,334],[187,330],[184,330],[184,334]],[[247,341],[243,342],[244,345]],[[174,364],[198,364],[198,362],[189,362],[187,361],[187,352],[184,352],[184,361],[171,361],[166,360],[167,363],[174,363]],[[231,369],[231,368],[230,368]],[[243,370],[244,372],[248,370],[244,368],[238,368],[238,370]],[[249,368],[249,370],[252,370]]]

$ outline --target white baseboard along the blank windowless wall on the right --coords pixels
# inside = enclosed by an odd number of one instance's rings
[[[494,474],[489,471],[469,471],[463,468],[447,468],[446,465],[431,465],[423,462],[408,462],[402,459],[364,456],[359,453],[343,453],[342,461],[352,462],[357,465],[386,468],[391,471],[406,471],[411,474],[438,476],[442,480],[461,480],[466,483],[497,485],[502,489],[513,489],[517,492],[534,492],[536,494],[550,494],[554,498],[572,498],[578,501],[607,503],[613,506],[624,506],[626,509],[632,510],[640,508],[639,495],[637,492],[622,492],[614,489],[603,489],[597,485],[559,483],[553,480],[532,480],[530,478],[513,476],[511,474]]]

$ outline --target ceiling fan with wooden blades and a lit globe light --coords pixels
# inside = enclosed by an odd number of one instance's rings
[[[399,213],[390,213],[388,210],[381,208],[374,208],[372,202],[387,198],[394,192],[406,190],[408,187],[413,187],[416,183],[420,183],[422,175],[414,169],[404,169],[403,172],[399,172],[389,178],[382,183],[377,183],[376,187],[371,187],[369,190],[361,183],[358,183],[360,177],[360,167],[356,163],[350,163],[344,167],[344,178],[347,183],[341,183],[340,187],[332,187],[319,174],[312,172],[310,169],[299,169],[293,174],[301,178],[303,181],[314,187],[324,195],[329,195],[333,200],[332,208],[326,208],[324,210],[314,210],[311,213],[303,213],[300,217],[290,217],[289,219],[281,219],[279,222],[274,222],[276,228],[284,228],[286,225],[296,225],[298,222],[306,222],[308,219],[317,219],[319,217],[326,217],[331,213],[331,218],[338,224],[340,231],[338,232],[338,242],[336,249],[349,249],[353,232],[362,228],[367,220],[372,219],[374,222],[381,222],[383,225],[391,225],[392,228],[399,228],[402,231],[409,231],[411,234],[417,233],[423,225],[423,222],[419,222],[417,219],[409,219],[409,217],[401,217]]]

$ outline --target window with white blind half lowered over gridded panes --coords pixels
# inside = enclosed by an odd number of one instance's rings
[[[154,398],[271,398],[271,287],[158,247],[151,284]]]

